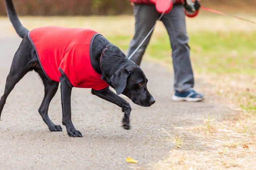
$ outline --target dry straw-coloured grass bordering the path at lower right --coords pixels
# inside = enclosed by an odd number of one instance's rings
[[[202,89],[206,95],[218,94],[221,98],[216,102],[239,114],[223,121],[208,118],[197,126],[176,127],[178,133],[171,140],[176,148],[169,158],[151,164],[151,169],[255,169],[256,110],[241,108],[241,103],[250,102],[244,91],[256,94],[255,79],[246,75],[198,76],[207,84]],[[251,105],[256,107],[256,103]]]

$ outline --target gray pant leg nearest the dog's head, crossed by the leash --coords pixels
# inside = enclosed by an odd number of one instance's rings
[[[129,57],[139,46],[142,40],[147,36],[152,29],[160,14],[155,9],[154,5],[134,4],[135,16],[135,34],[130,43],[127,57]],[[147,37],[142,46],[132,56],[131,60],[140,65],[142,56],[147,48],[152,33]]]

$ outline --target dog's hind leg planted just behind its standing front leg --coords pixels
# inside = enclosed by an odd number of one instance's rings
[[[61,126],[54,124],[48,116],[49,104],[53,96],[56,94],[58,90],[59,82],[55,82],[47,78],[44,72],[42,71],[42,69],[34,69],[34,70],[40,75],[45,87],[44,99],[41,103],[41,106],[39,107],[38,112],[42,116],[42,119],[44,120],[45,124],[47,124],[50,131],[62,131]]]

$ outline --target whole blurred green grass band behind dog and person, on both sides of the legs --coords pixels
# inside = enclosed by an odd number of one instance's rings
[[[256,75],[256,32],[189,33],[193,69],[198,73]],[[131,36],[107,37],[121,49],[128,49]],[[153,35],[146,50],[151,58],[171,62],[169,37]]]

